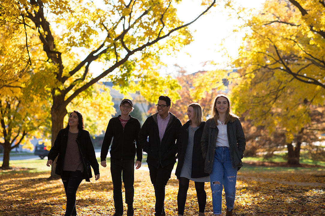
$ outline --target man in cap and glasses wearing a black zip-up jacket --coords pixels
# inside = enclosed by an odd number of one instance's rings
[[[100,165],[106,167],[106,156],[110,148],[114,216],[123,214],[122,177],[125,189],[125,203],[127,204],[126,215],[133,216],[134,214],[134,159],[136,156],[135,166],[136,169],[139,169],[142,161],[142,148],[138,142],[140,122],[130,115],[133,109],[133,103],[130,99],[122,100],[120,104],[121,115],[110,119],[100,152]],[[112,139],[113,142],[110,147]]]

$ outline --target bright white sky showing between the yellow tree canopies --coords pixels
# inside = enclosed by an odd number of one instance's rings
[[[265,0],[238,1],[244,7],[260,8]],[[201,1],[184,0],[177,6],[178,17],[185,22],[189,22],[197,17],[204,9],[200,6]],[[198,9],[200,8],[200,9]],[[213,70],[211,66],[203,67],[203,62],[214,61],[223,64],[227,61],[222,57],[220,43],[223,39],[227,53],[231,57],[238,55],[238,47],[242,41],[240,33],[232,32],[233,26],[238,24],[238,19],[228,19],[228,12],[222,11],[220,7],[213,7],[208,14],[204,14],[197,21],[189,26],[193,32],[194,41],[184,47],[176,56],[163,56],[162,61],[167,63],[167,68],[162,68],[162,73],[173,73],[174,64],[186,68],[188,73],[194,73],[199,70]]]

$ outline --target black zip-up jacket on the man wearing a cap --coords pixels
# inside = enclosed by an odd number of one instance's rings
[[[142,148],[138,141],[140,131],[140,122],[138,119],[130,116],[124,129],[118,117],[111,118],[108,122],[103,144],[100,151],[100,161],[106,160],[110,148],[110,158],[119,160],[142,161]],[[112,142],[113,139],[113,142]],[[112,142],[112,146],[110,144]]]

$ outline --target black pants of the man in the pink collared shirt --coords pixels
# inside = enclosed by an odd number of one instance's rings
[[[150,180],[155,188],[155,215],[160,216],[163,211],[164,200],[165,200],[165,186],[170,179],[170,175],[174,168],[174,163],[169,164],[165,167],[159,166],[159,168],[155,166],[151,166],[148,164]]]

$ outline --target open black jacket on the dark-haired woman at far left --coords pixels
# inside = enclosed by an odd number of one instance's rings
[[[47,158],[53,161],[59,155],[58,160],[56,162],[57,166],[55,168],[55,174],[57,175],[61,175],[63,171],[63,161],[68,144],[68,133],[69,125],[68,127],[59,131],[58,136],[54,141],[54,145],[52,146],[50,152],[47,155]],[[89,179],[92,177],[90,166],[93,168],[95,175],[99,174],[99,166],[89,132],[86,130],[79,130],[76,141],[84,165],[84,179],[86,180],[86,182],[90,182]]]

